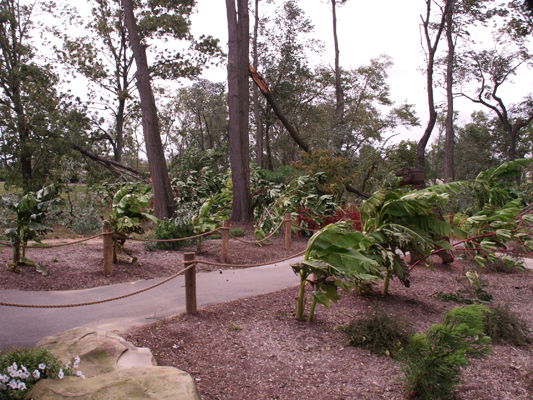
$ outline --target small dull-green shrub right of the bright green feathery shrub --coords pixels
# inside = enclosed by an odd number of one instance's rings
[[[492,306],[485,315],[485,332],[494,343],[525,346],[531,343],[527,323],[508,305]]]

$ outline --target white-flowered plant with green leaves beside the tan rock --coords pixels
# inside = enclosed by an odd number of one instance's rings
[[[80,358],[62,365],[49,351],[20,349],[0,354],[0,399],[24,399],[41,379],[85,378],[78,370]]]

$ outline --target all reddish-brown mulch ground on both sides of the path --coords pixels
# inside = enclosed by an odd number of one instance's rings
[[[249,237],[247,239],[250,239]],[[283,250],[282,238],[263,247],[231,241],[230,262],[261,263],[294,254],[306,241]],[[56,249],[32,249],[28,256],[45,265],[42,277],[29,267],[20,274],[0,269],[0,289],[79,289],[168,276],[182,265],[183,252],[148,252],[142,243],[129,243],[139,261],[120,263],[112,277],[102,273],[102,244]],[[195,248],[184,249],[194,251]],[[217,260],[220,240],[206,241],[197,258]],[[0,250],[0,263],[9,261]],[[199,270],[218,269],[199,265]],[[417,267],[411,288],[398,281],[391,295],[361,297],[343,294],[331,309],[317,308],[314,323],[294,319],[296,288],[209,306],[195,316],[182,315],[129,332],[127,339],[152,349],[159,365],[189,372],[203,400],[359,400],[403,399],[400,364],[388,357],[348,346],[339,327],[354,318],[382,309],[410,322],[414,332],[438,323],[457,306],[432,295],[462,289],[464,264]],[[533,327],[531,271],[483,272],[486,290],[495,304],[507,304]],[[376,288],[376,293],[379,287]],[[529,348],[493,346],[492,354],[464,369],[455,400],[531,400],[533,358]]]

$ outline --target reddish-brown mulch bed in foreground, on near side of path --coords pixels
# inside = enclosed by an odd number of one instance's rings
[[[339,327],[382,309],[409,321],[416,332],[459,305],[431,297],[463,288],[458,269],[421,267],[407,289],[394,281],[391,295],[344,294],[331,309],[317,309],[312,324],[294,319],[296,288],[206,307],[130,332],[150,347],[160,365],[192,374],[203,400],[403,399],[400,364],[347,344]],[[531,271],[486,273],[494,303],[533,326]],[[531,400],[531,346],[492,346],[487,358],[464,369],[455,400]]]

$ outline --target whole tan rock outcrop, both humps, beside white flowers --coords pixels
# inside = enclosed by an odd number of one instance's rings
[[[200,400],[189,374],[155,366],[150,349],[110,332],[75,328],[45,337],[37,347],[63,363],[79,356],[86,379],[43,379],[28,394],[34,400]]]

